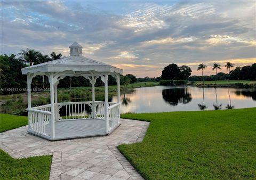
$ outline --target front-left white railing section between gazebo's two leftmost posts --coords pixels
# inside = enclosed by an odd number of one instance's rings
[[[51,121],[51,112],[37,110],[34,108],[26,109],[28,111],[29,131],[46,136],[45,125]]]

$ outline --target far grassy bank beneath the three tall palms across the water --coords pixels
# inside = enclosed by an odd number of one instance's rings
[[[215,80],[211,80],[211,81],[204,81],[205,85],[214,85],[215,84]],[[228,81],[227,80],[217,80],[216,81],[217,85],[228,85]],[[229,85],[237,85],[237,86],[241,86],[241,85],[256,85],[256,80],[230,80],[229,81]],[[194,85],[203,85],[203,81],[195,81]]]

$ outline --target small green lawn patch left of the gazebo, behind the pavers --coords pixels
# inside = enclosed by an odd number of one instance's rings
[[[0,113],[0,133],[25,125],[28,125],[27,116],[15,116]]]

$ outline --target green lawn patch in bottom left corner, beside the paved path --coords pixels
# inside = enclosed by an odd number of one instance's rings
[[[49,179],[52,156],[13,159],[0,150],[1,179]]]

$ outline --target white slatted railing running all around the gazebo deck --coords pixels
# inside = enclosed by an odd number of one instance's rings
[[[105,120],[105,102],[63,102],[54,104],[58,108],[55,113],[55,121],[102,119]],[[95,108],[94,108],[95,107]],[[51,122],[51,105],[41,105],[26,109],[28,111],[29,132],[50,136],[46,133],[45,126]],[[92,112],[94,110],[94,112]],[[115,129],[120,122],[120,103],[108,102],[108,124],[109,132]],[[61,111],[61,113],[60,113]],[[61,115],[60,115],[61,114]]]

